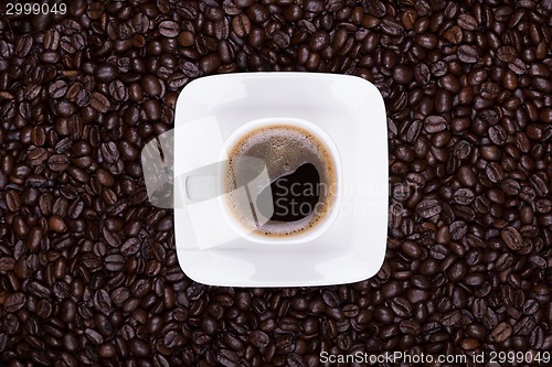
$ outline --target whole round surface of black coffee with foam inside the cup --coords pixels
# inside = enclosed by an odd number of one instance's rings
[[[290,236],[309,230],[328,214],[335,202],[335,162],[311,132],[273,125],[247,133],[229,151],[226,193],[247,186],[259,173],[261,169],[252,168],[252,158],[266,165],[269,184],[256,194],[250,190],[227,195],[232,215],[246,229],[269,237]]]

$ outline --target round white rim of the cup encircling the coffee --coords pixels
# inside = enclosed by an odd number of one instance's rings
[[[229,213],[227,205],[225,204],[224,197],[225,195],[219,195],[219,206],[221,209],[221,213],[223,215],[223,218],[226,220],[227,225],[240,236],[241,239],[245,239],[252,242],[256,244],[263,244],[263,245],[298,245],[298,244],[306,244],[315,240],[316,238],[320,237],[322,234],[325,234],[331,225],[335,223],[338,214],[339,214],[339,208],[341,204],[341,191],[342,191],[342,174],[341,174],[341,160],[339,155],[339,150],[335,143],[335,141],[331,139],[331,137],[319,126],[316,123],[305,120],[305,119],[299,119],[295,117],[269,117],[269,118],[261,118],[261,119],[254,119],[251,121],[247,121],[243,125],[241,125],[237,129],[232,131],[229,137],[224,140],[221,153],[220,153],[220,162],[226,161],[229,159],[227,152],[229,149],[234,147],[234,144],[245,136],[246,133],[262,128],[262,127],[267,127],[267,126],[273,126],[273,125],[290,125],[295,127],[302,128],[311,133],[314,133],[320,141],[322,141],[323,144],[328,148],[330,151],[331,158],[333,159],[333,164],[336,166],[336,185],[337,185],[337,191],[335,195],[335,201],[331,204],[331,207],[329,209],[329,213],[322,217],[321,222],[311,230],[308,230],[302,234],[296,234],[291,236],[283,236],[278,238],[269,238],[261,235],[256,235],[253,231],[248,231],[245,229],[243,225],[240,225],[236,223],[234,218],[232,218],[232,214]],[[219,177],[222,177],[223,170],[224,170],[224,164],[221,164],[219,166]],[[222,182],[221,180],[219,181],[219,192],[222,192]]]

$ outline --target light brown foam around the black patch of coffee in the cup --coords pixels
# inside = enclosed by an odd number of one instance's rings
[[[246,197],[235,193],[226,195],[232,215],[238,219],[246,230],[261,236],[284,237],[299,235],[321,223],[335,202],[336,165],[329,149],[310,131],[290,125],[273,125],[257,128],[241,138],[229,151],[229,165],[225,170],[223,187],[226,193],[238,186],[236,177],[247,176],[241,184],[253,179],[247,174],[247,166],[242,164],[246,158],[264,160],[270,183],[278,177],[291,174],[300,165],[311,163],[320,175],[320,198],[315,211],[296,222],[273,222],[258,226],[250,211]],[[261,190],[259,190],[261,191]],[[246,207],[247,211],[243,208]]]

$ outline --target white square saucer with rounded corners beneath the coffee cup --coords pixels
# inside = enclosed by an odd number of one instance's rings
[[[315,123],[341,161],[339,212],[302,244],[258,244],[227,225],[216,198],[190,204],[187,173],[221,160],[233,131],[253,120]],[[350,283],[383,263],[388,227],[388,136],[383,99],[369,82],[316,73],[246,73],[191,82],[174,123],[174,228],[182,270],[214,285],[298,287]],[[214,244],[201,246],[201,244]]]

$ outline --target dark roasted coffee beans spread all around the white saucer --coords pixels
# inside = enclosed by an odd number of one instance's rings
[[[0,17],[8,366],[552,348],[550,0],[68,9]],[[180,270],[172,213],[149,204],[140,150],[172,128],[190,80],[256,71],[344,73],[382,93],[394,209],[372,279],[234,289]]]

